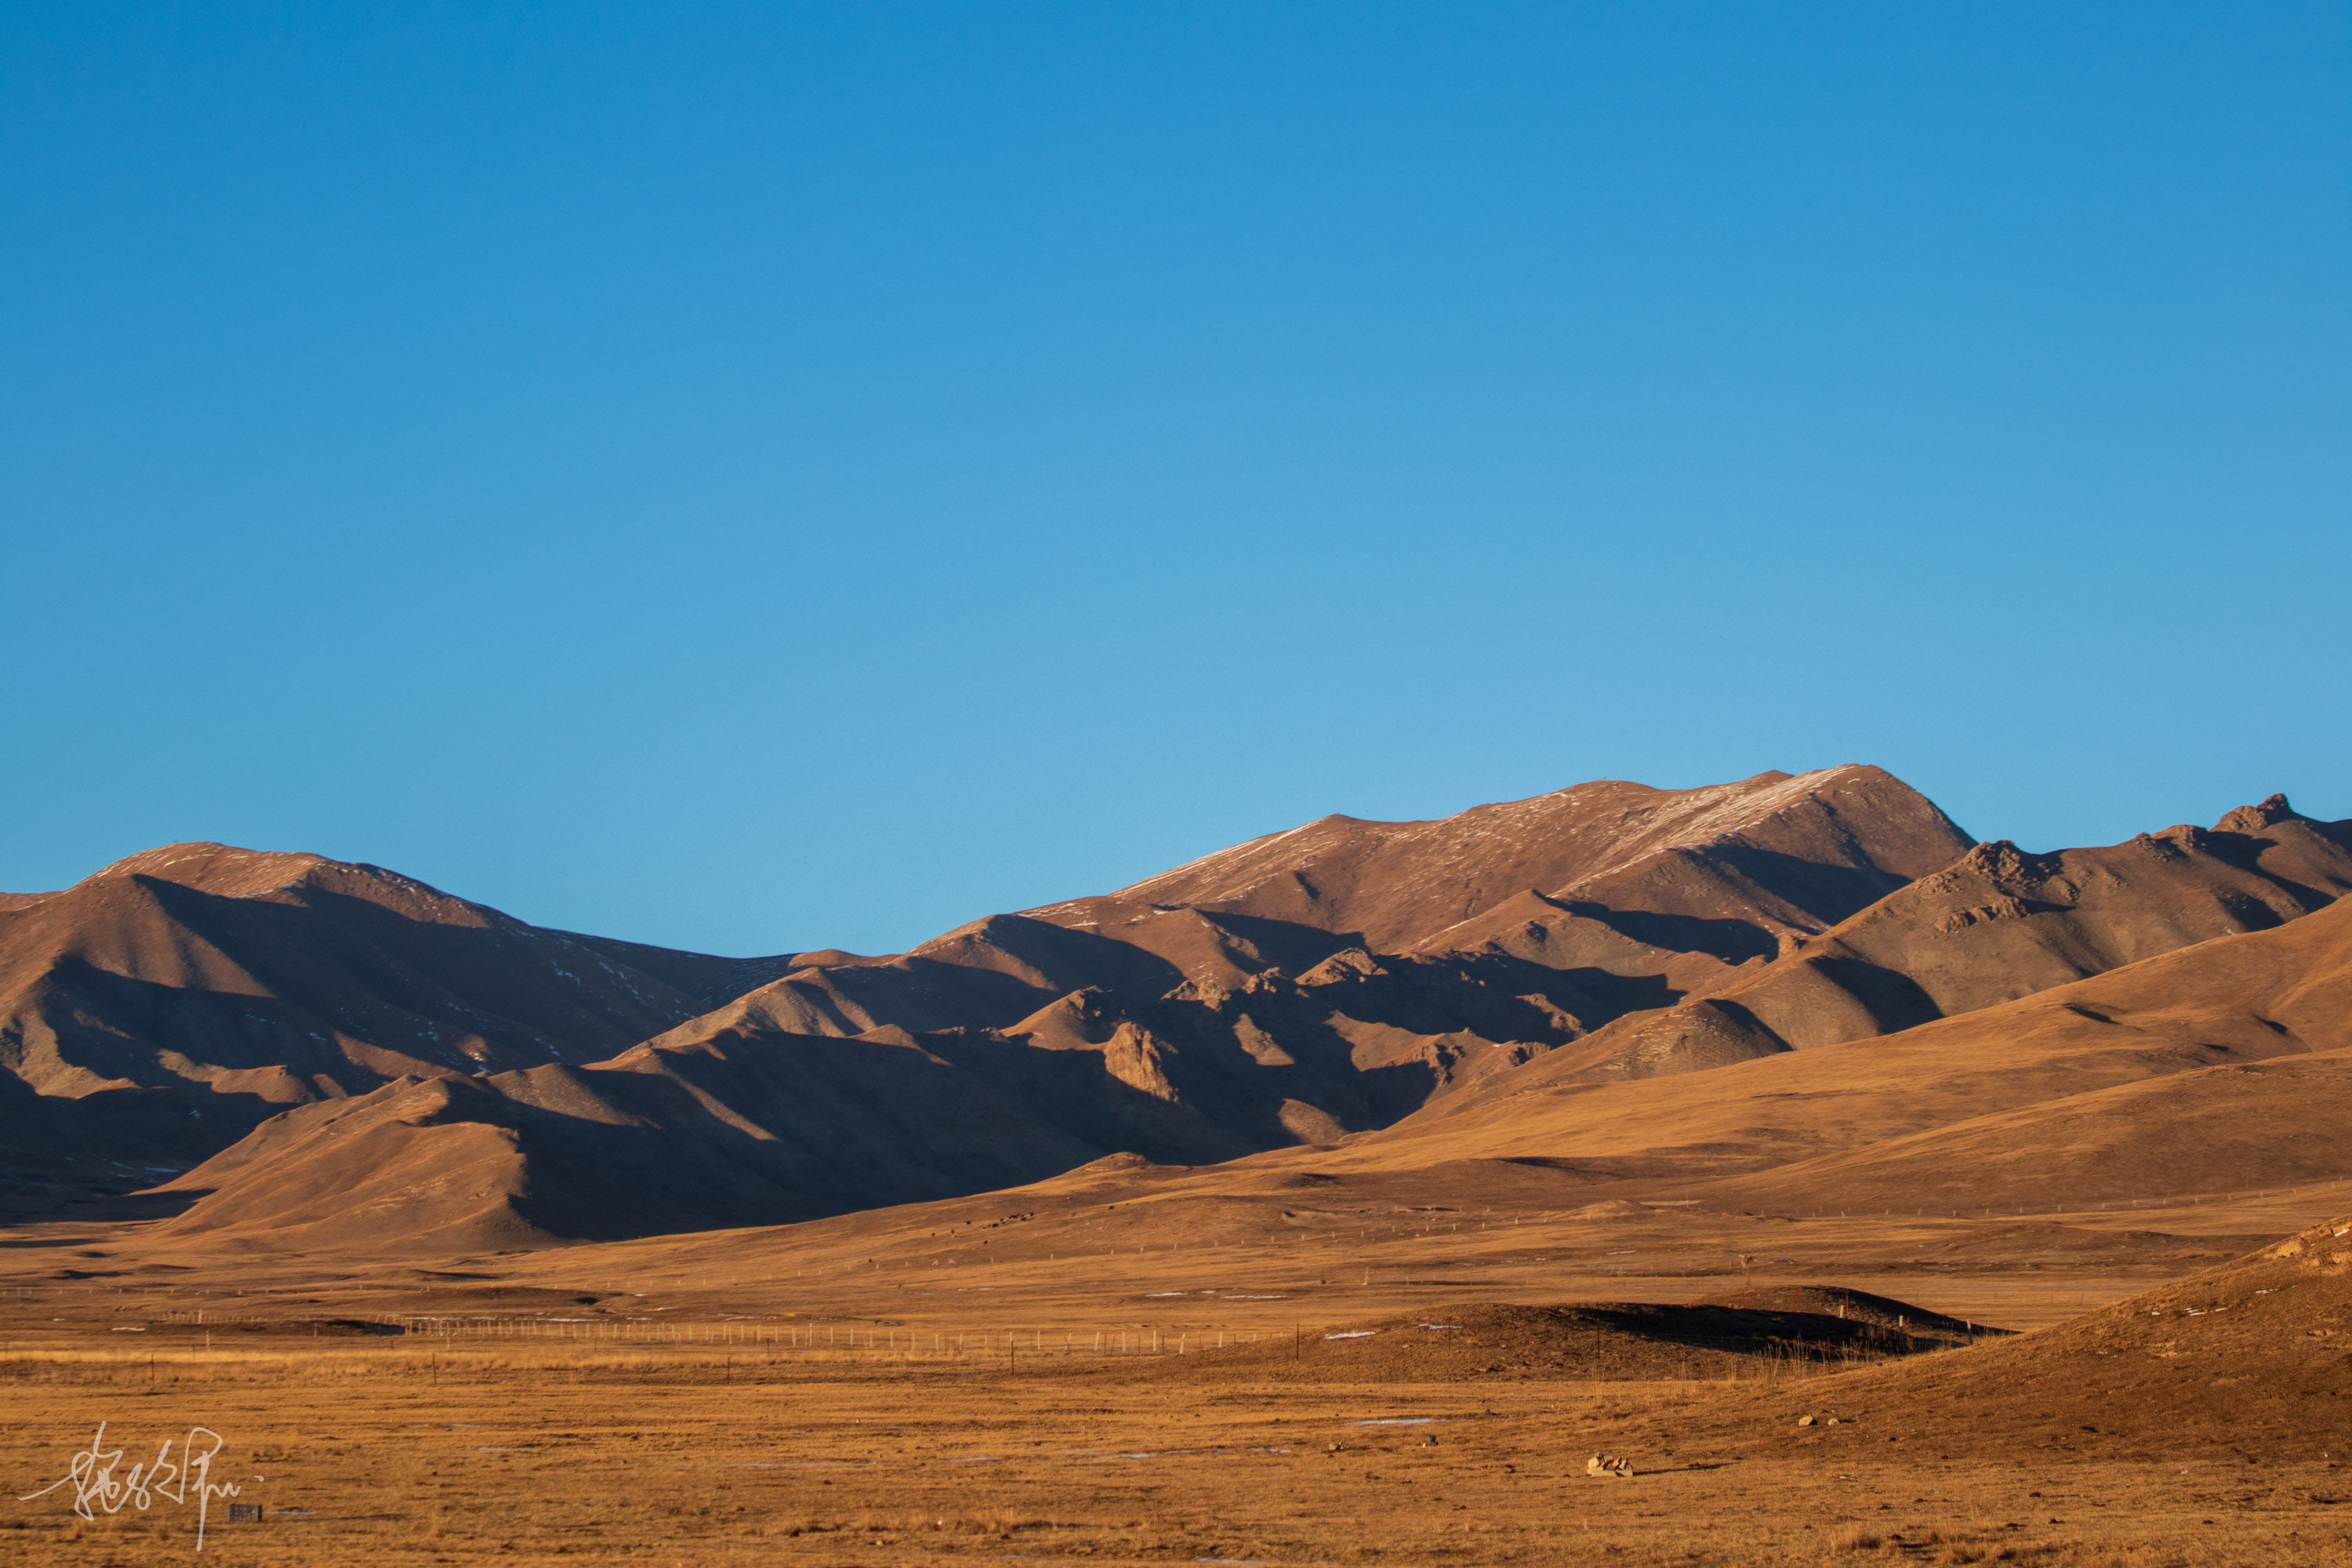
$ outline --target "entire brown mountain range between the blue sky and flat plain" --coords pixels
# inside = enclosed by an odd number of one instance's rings
[[[1108,1154],[1806,1201],[2220,1124],[2272,1159],[2343,1105],[2345,891],[2352,823],[2281,797],[2025,853],[1870,766],[1331,816],[889,957],[673,952],[176,844],[0,898],[0,1161],[19,1215],[146,1190],[245,1246],[482,1248]]]

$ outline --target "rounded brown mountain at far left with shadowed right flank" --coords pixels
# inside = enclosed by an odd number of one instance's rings
[[[623,1051],[788,969],[543,931],[374,865],[174,844],[0,910],[21,1173],[193,1164],[402,1074]]]

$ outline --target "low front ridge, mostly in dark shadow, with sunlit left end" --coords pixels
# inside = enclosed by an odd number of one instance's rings
[[[1242,1030],[1251,1006],[1310,1006],[1275,985],[1242,987]],[[1456,1065],[1454,1048],[1425,1060],[1418,1037],[1383,1058],[1376,1037],[1334,1027],[1312,1044],[1287,1030],[1296,1056],[1254,1034],[1254,1056],[1230,1034],[1185,1034],[1185,1004],[1164,1025],[1082,990],[1004,1032],[746,1023],[607,1063],[405,1077],[294,1107],[169,1182],[198,1201],[162,1234],[299,1248],[360,1220],[372,1246],[435,1251],[774,1225],[1011,1187],[1115,1152],[1190,1166],[1341,1135],[1324,1105],[1392,1121]],[[1482,1065],[1508,1060],[1461,1070]]]

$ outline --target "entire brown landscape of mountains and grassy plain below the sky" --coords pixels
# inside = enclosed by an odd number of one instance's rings
[[[2345,891],[1872,766],[882,957],[165,846],[0,896],[0,1429],[209,1422],[256,1563],[2347,1561]]]

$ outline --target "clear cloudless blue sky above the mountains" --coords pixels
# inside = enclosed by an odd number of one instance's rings
[[[0,886],[903,947],[1327,811],[2352,816],[2352,9],[0,9]]]

